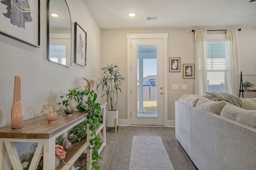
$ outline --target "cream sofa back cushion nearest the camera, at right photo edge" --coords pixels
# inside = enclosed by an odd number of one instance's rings
[[[232,104],[227,104],[220,112],[220,116],[256,128],[256,110],[245,110]]]

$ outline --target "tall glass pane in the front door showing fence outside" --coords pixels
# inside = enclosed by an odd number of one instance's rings
[[[157,117],[157,45],[138,45],[137,117]]]

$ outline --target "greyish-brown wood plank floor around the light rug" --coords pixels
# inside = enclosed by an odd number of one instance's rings
[[[132,136],[160,136],[175,170],[196,170],[186,152],[175,138],[174,127],[119,127],[106,130],[106,147],[98,160],[100,170],[128,170],[132,149]]]

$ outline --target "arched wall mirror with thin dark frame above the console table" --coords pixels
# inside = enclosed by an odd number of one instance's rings
[[[71,66],[71,19],[66,0],[47,0],[47,59]]]

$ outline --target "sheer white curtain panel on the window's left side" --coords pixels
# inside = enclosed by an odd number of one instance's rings
[[[196,63],[195,63],[195,94],[202,96],[207,90],[206,85],[206,65],[207,65],[207,49],[206,49],[207,30],[196,30]]]

